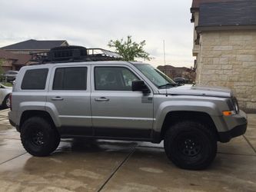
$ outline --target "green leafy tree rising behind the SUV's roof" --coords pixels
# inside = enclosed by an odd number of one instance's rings
[[[115,48],[115,51],[118,52],[125,61],[135,61],[135,58],[143,58],[144,60],[150,61],[151,58],[149,54],[143,49],[145,45],[145,40],[140,43],[132,41],[131,35],[127,36],[126,41],[121,38],[121,40],[111,40],[108,42],[108,47]]]

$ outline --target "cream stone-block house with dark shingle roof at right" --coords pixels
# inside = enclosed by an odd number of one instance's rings
[[[231,88],[256,111],[256,1],[194,0],[196,82]]]

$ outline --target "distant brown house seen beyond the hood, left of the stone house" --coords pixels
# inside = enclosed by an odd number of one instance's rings
[[[168,75],[169,78],[187,78],[190,81],[194,81],[195,73],[191,68],[174,67],[172,65],[160,65],[158,69]]]

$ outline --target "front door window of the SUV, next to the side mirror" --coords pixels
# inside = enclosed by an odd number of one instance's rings
[[[95,68],[95,90],[131,91],[131,82],[138,78],[128,68]]]

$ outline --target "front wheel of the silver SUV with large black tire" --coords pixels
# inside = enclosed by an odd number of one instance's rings
[[[210,127],[195,121],[171,126],[165,134],[165,153],[178,167],[201,170],[208,167],[217,153],[216,134]]]

